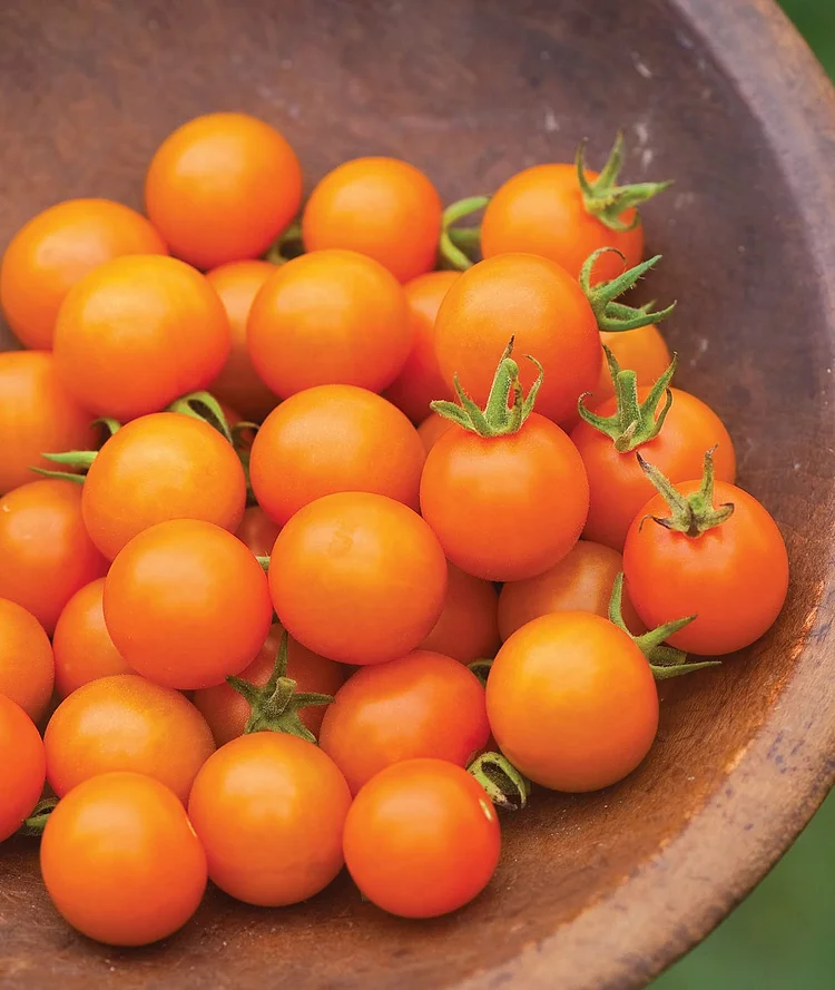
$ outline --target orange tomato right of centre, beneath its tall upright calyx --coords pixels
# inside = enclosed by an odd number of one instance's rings
[[[588,511],[580,455],[532,413],[518,433],[450,430],[426,458],[421,511],[446,557],[493,581],[533,577],[577,542]]]

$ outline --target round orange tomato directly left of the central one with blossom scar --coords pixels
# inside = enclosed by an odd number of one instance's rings
[[[140,532],[105,582],[105,621],[144,677],[190,690],[239,674],[269,631],[264,571],[247,547],[210,522],[174,519]]]

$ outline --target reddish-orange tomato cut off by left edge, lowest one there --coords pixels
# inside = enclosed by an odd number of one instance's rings
[[[13,835],[40,798],[46,780],[43,743],[32,719],[0,694],[0,842]]]

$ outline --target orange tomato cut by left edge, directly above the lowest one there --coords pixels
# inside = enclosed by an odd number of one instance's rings
[[[43,627],[24,608],[0,598],[0,694],[39,722],[53,684],[55,659]]]

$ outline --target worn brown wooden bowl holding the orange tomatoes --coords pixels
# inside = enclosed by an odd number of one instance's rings
[[[644,986],[745,896],[835,773],[835,100],[794,30],[769,0],[29,0],[0,11],[0,86],[3,245],[58,199],[138,205],[156,145],[208,110],[276,124],[308,186],[397,155],[448,200],[583,136],[599,161],[623,127],[627,177],[676,179],[645,219],[665,255],[649,287],[680,301],[678,383],[729,424],[793,563],[772,633],[661,685],[658,743],[621,785],[538,793],[508,819],[495,880],[453,917],[384,917],[344,879],[288,910],[213,891],[176,938],[121,952],[60,921],[16,840],[0,986]]]

